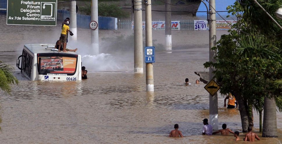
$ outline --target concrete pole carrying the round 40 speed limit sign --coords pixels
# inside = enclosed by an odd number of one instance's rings
[[[91,1],[91,21],[97,21],[98,27],[93,30],[91,29],[91,46],[92,53],[94,55],[99,54],[99,22],[98,22],[98,0]]]

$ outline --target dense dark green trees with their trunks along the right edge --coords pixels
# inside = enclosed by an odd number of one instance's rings
[[[282,1],[258,2],[282,25],[275,16]],[[254,126],[252,109],[256,109],[262,136],[277,137],[276,108],[282,111],[282,30],[253,0],[238,0],[227,9],[239,20],[212,48],[217,51],[216,62],[204,66],[215,69],[220,93],[231,92],[238,101],[243,132]]]

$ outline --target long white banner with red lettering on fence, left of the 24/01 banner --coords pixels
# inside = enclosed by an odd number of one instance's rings
[[[145,21],[142,21],[142,30],[146,30]],[[134,22],[131,22],[134,30]],[[152,21],[152,30],[165,30],[165,21]],[[171,21],[171,30],[180,30],[180,21]]]

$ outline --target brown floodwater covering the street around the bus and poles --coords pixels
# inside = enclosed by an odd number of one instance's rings
[[[233,135],[203,136],[203,119],[209,118],[209,94],[205,84],[195,84],[195,71],[208,71],[208,31],[172,31],[172,53],[156,53],[154,92],[146,92],[146,73],[133,73],[133,48],[104,50],[103,37],[133,35],[132,30],[99,30],[103,53],[91,55],[90,29],[77,28],[78,48],[88,79],[70,82],[29,81],[15,66],[24,44],[55,44],[57,26],[6,25],[0,14],[0,60],[15,68],[19,85],[11,95],[0,91],[4,143],[234,143]],[[143,31],[143,34],[145,31]],[[217,31],[217,39],[227,31]],[[157,44],[164,44],[165,31],[153,31]],[[185,86],[189,78],[190,86]],[[219,128],[223,123],[243,138],[239,111],[226,109],[218,93]],[[184,138],[168,138],[174,124]],[[282,114],[277,112],[278,138],[261,138],[256,143],[282,142]],[[259,133],[259,118],[254,111],[254,132]],[[261,136],[261,134],[258,134]],[[242,140],[236,143],[245,143]]]

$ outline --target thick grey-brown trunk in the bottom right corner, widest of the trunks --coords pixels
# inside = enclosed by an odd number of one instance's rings
[[[275,98],[264,98],[262,137],[278,137]]]

